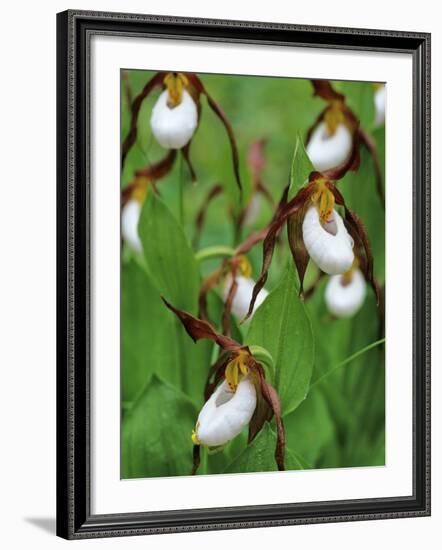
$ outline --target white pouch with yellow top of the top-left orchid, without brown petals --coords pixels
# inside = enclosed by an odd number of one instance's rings
[[[152,109],[152,133],[162,147],[181,149],[192,139],[198,126],[198,109],[185,89],[188,80],[183,74],[170,73],[164,82],[167,88]]]

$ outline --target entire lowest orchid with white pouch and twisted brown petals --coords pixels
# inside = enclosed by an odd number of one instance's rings
[[[205,405],[192,432],[193,469],[200,463],[200,448],[220,447],[232,440],[248,426],[248,441],[253,441],[266,421],[275,418],[275,461],[284,470],[285,431],[281,417],[281,405],[275,388],[266,380],[260,351],[253,346],[242,346],[229,336],[218,334],[202,319],[172,306],[165,305],[178,317],[194,342],[208,339],[215,342],[221,354],[209,370],[204,392]],[[265,350],[261,349],[261,352]],[[263,357],[268,357],[268,352]]]

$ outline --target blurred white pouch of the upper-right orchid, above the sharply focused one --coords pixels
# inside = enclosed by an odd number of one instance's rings
[[[345,162],[353,148],[350,130],[343,123],[330,135],[327,124],[321,122],[313,130],[307,145],[307,154],[319,172],[335,168]]]

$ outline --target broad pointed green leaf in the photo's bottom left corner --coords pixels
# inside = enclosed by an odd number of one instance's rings
[[[197,410],[153,376],[123,420],[122,478],[190,475]]]

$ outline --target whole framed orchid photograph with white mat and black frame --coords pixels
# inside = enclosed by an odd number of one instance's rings
[[[430,36],[57,19],[57,533],[430,514]]]

